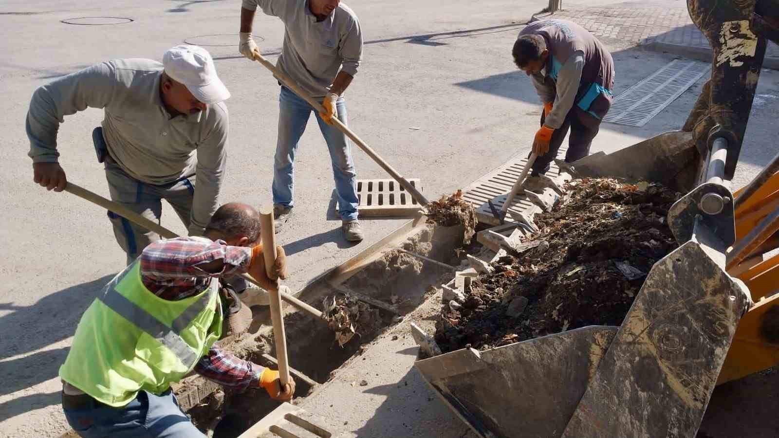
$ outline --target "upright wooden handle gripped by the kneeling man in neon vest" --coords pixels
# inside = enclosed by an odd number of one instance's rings
[[[273,206],[259,207],[259,233],[263,239],[263,257],[265,272],[273,277],[273,264],[276,263],[276,235],[273,231]],[[284,314],[281,313],[279,288],[268,291],[270,295],[270,319],[273,320],[273,339],[276,341],[276,357],[279,360],[279,380],[282,385],[290,381],[290,368],[287,362],[287,334],[284,332]]]

